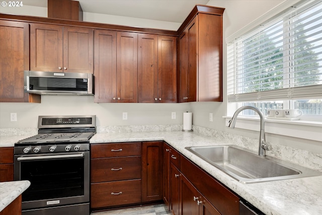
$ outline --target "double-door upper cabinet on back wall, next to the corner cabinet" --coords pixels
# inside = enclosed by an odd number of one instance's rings
[[[177,38],[138,37],[138,102],[177,102]]]

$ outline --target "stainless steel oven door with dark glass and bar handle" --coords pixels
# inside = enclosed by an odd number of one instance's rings
[[[89,152],[15,156],[15,180],[28,180],[22,209],[89,202]]]

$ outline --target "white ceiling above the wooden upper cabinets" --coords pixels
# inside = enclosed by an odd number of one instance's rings
[[[209,0],[79,0],[83,12],[182,23],[197,4]],[[24,0],[24,5],[45,7],[47,0]]]

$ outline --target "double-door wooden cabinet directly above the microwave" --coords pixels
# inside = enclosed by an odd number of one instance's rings
[[[93,73],[93,29],[30,24],[30,70]]]

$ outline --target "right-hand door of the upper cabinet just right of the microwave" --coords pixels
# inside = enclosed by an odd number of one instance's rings
[[[137,33],[117,32],[117,102],[137,102]]]

